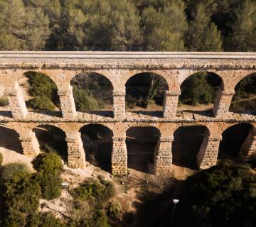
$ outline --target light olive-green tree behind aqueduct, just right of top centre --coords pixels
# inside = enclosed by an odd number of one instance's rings
[[[166,1],[164,7],[153,6],[142,11],[144,49],[158,51],[181,51],[184,47],[184,33],[187,29],[183,1]]]

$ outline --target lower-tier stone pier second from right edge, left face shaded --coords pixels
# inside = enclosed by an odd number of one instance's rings
[[[199,170],[208,169],[216,165],[220,140],[222,140],[222,138],[209,137],[209,135],[206,134],[196,157]]]

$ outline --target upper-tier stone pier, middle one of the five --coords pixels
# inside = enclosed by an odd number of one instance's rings
[[[125,92],[113,92],[114,118],[122,121],[125,118]]]

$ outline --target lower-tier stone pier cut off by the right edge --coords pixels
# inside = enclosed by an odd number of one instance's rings
[[[256,130],[252,128],[242,144],[239,156],[242,160],[251,160],[256,158]]]

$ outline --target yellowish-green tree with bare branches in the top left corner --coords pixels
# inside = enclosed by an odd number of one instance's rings
[[[0,1],[0,50],[42,50],[50,35],[49,20],[40,8],[21,0]]]

